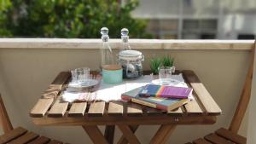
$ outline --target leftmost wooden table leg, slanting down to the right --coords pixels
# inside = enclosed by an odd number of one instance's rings
[[[96,125],[83,125],[84,130],[87,135],[89,135],[90,140],[95,144],[108,144],[108,141],[102,135],[101,130]]]

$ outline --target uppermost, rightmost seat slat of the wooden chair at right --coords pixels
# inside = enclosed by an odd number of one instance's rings
[[[225,139],[228,139],[230,141],[233,141],[237,144],[246,144],[247,143],[247,138],[237,135],[232,133],[230,130],[226,130],[224,128],[220,128],[215,131],[215,133],[221,137],[224,137]]]

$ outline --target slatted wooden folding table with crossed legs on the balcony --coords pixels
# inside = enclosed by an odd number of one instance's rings
[[[32,108],[30,116],[37,125],[81,125],[91,141],[96,144],[113,143],[115,126],[123,133],[119,144],[140,143],[134,135],[139,125],[157,124],[159,130],[150,141],[151,144],[166,143],[172,131],[178,124],[214,124],[221,110],[212,99],[205,86],[200,82],[195,72],[182,71],[184,79],[194,89],[195,101],[189,101],[183,107],[172,112],[164,112],[150,107],[144,107],[131,102],[104,101],[62,102],[58,95],[65,89],[70,72],[61,72],[49,85],[44,95],[50,98],[40,98]],[[49,96],[50,95],[50,96]],[[102,135],[98,125],[106,125]]]

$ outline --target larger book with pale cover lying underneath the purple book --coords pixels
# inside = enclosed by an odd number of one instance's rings
[[[143,86],[144,87],[144,86]],[[177,107],[181,107],[189,102],[189,99],[167,99],[160,97],[140,97],[138,94],[143,89],[139,87],[137,89],[132,89],[121,95],[122,100],[132,101],[137,104],[141,104],[148,107],[154,107],[160,110],[172,111]]]

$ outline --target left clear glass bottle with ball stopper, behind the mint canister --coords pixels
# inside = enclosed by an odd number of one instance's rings
[[[101,29],[102,34],[102,49],[101,49],[101,70],[104,66],[109,66],[114,64],[113,59],[113,51],[108,43],[108,28],[102,27]]]

